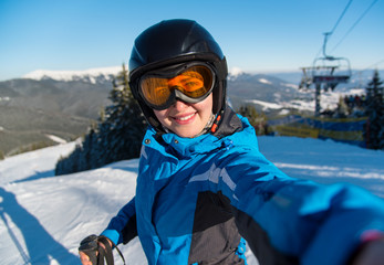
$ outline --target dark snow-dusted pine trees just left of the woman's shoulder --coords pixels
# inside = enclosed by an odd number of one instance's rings
[[[112,104],[101,112],[98,124],[90,129],[82,144],[68,158],[58,161],[56,174],[94,169],[139,156],[147,125],[131,93],[124,64],[113,82],[110,99]]]

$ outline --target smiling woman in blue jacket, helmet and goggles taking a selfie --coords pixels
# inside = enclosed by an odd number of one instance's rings
[[[102,239],[138,235],[148,264],[246,264],[245,241],[262,265],[380,261],[372,250],[384,250],[383,201],[292,179],[269,162],[248,120],[226,105],[226,59],[206,29],[189,20],[151,26],[129,71],[149,127],[136,195]]]

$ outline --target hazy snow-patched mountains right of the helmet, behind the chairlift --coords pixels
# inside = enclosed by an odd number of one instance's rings
[[[321,92],[321,109],[335,109],[341,98],[365,94],[374,70],[355,71],[349,83],[340,84],[334,91]],[[384,71],[380,71],[384,76]],[[290,109],[311,114],[314,112],[314,85],[299,89],[300,72],[250,74],[232,68],[228,76],[228,95],[235,108],[251,104],[268,114],[284,115]]]

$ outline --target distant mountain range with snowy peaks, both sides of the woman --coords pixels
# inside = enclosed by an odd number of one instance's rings
[[[22,78],[0,82],[0,155],[58,139],[84,135],[111,102],[112,81],[122,67],[86,71],[34,71]],[[363,93],[373,71],[322,96],[324,107],[334,107],[341,94]],[[228,77],[228,98],[233,109],[253,105],[269,116],[291,109],[312,113],[313,89],[298,89],[300,72],[251,74],[237,71]],[[382,73],[381,76],[384,76]]]

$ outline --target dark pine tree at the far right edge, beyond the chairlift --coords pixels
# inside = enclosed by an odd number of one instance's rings
[[[366,109],[369,117],[366,125],[366,146],[370,149],[384,149],[384,87],[378,71],[374,72],[372,81],[366,87]]]

